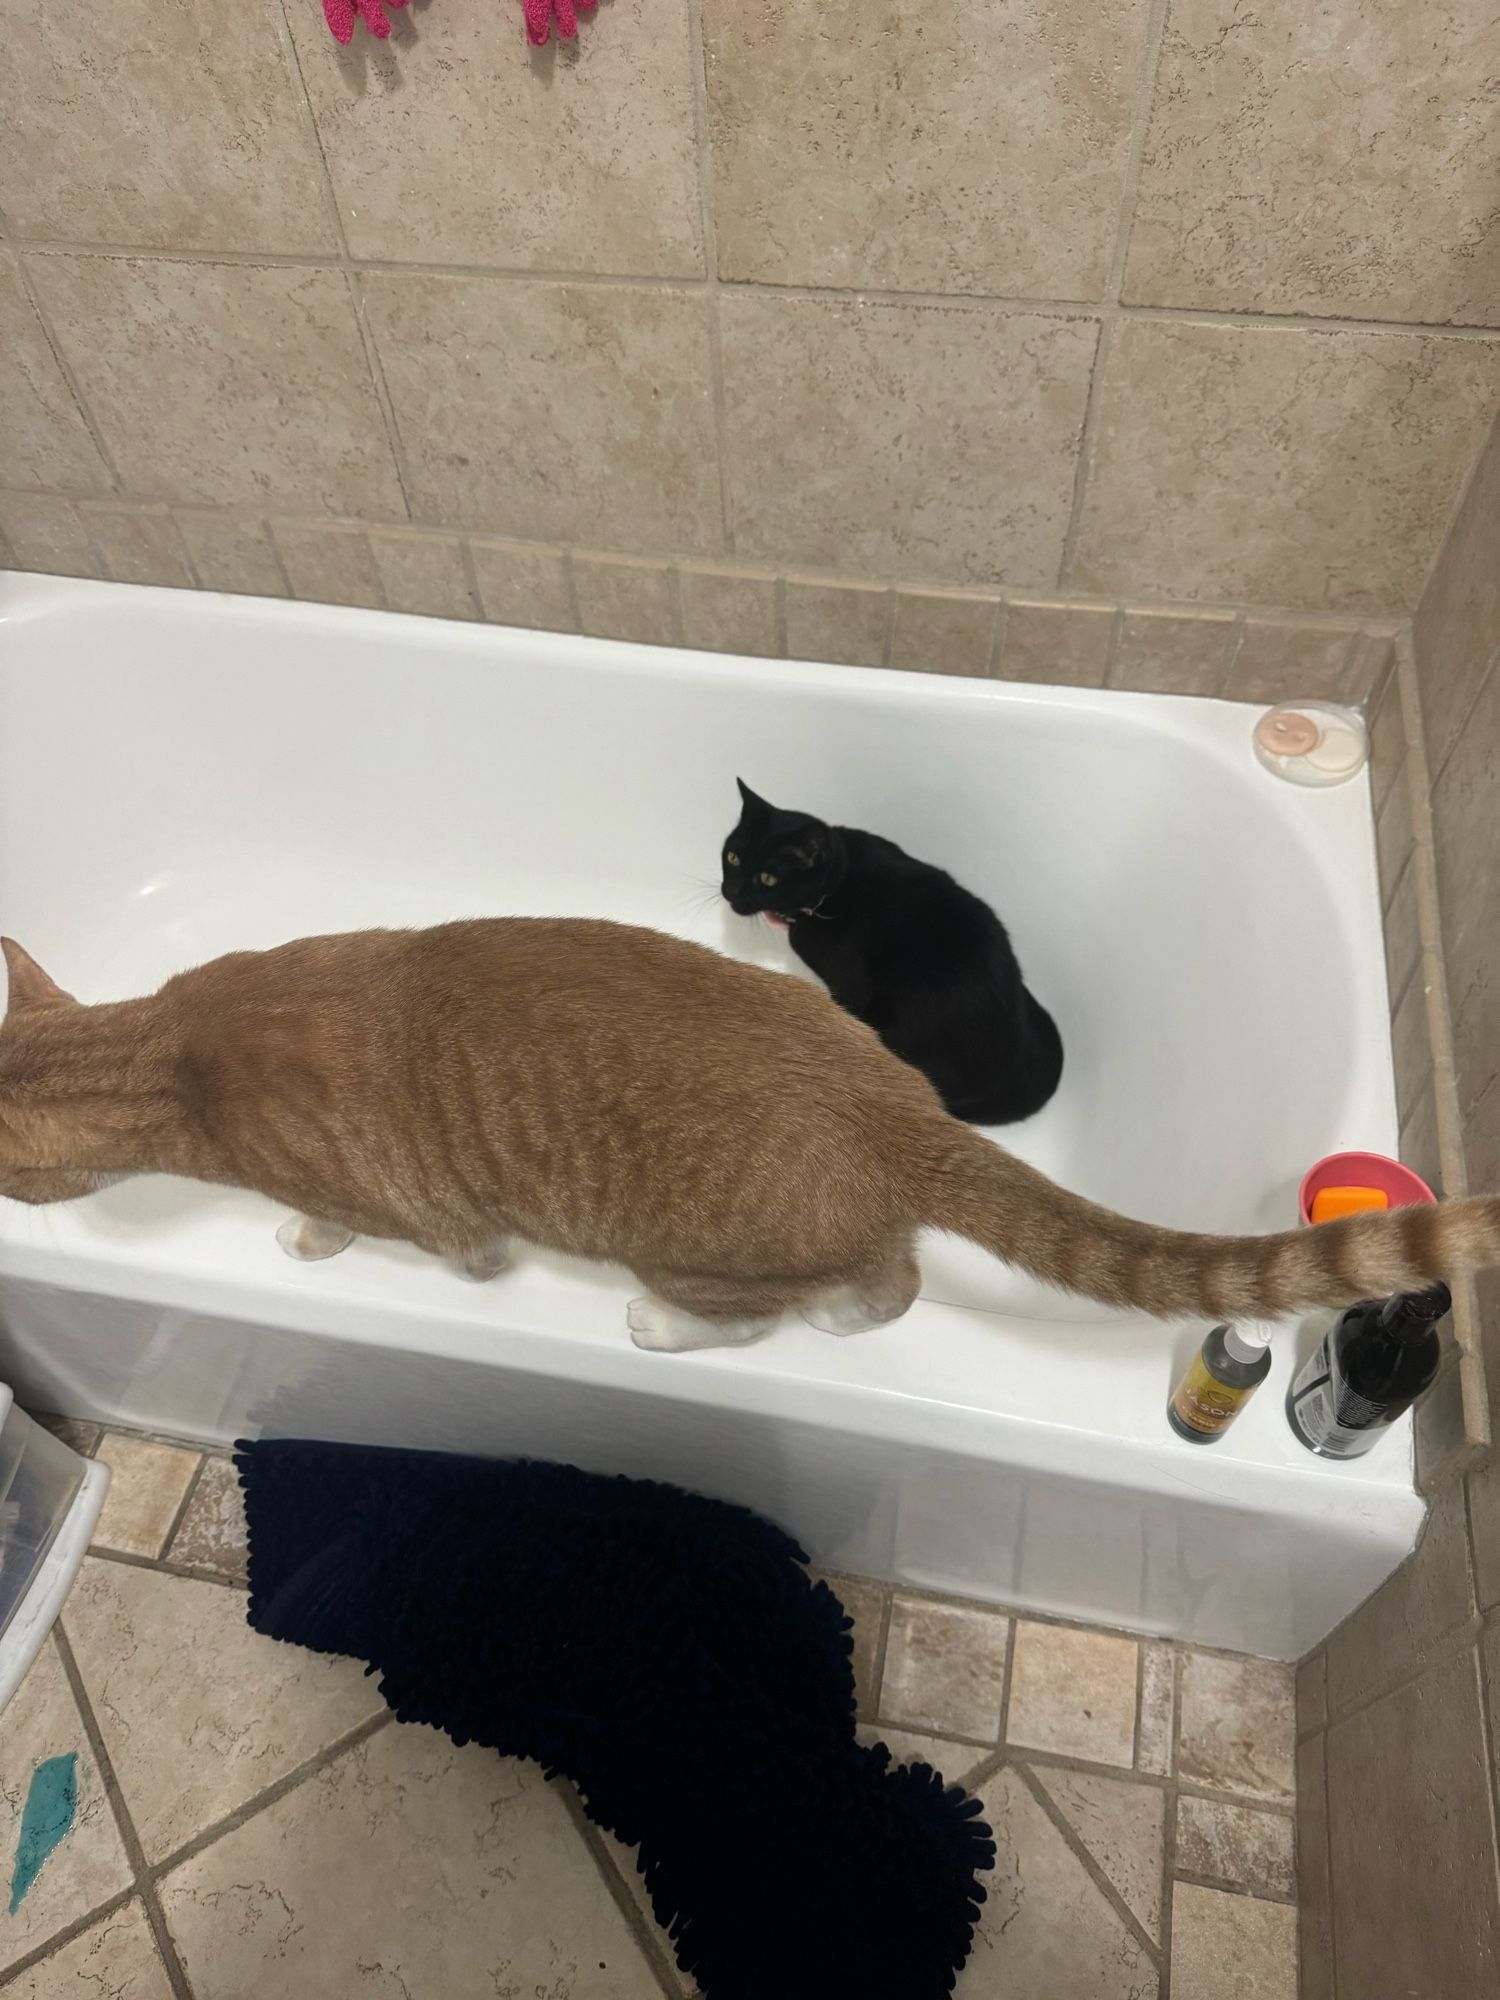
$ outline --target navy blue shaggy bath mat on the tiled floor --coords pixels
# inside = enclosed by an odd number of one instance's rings
[[[848,1620],[744,1508],[572,1466],[264,1440],[250,1624],[380,1674],[402,1722],[534,1758],[640,1844],[708,2000],[938,2000],[994,1842],[854,1740]]]

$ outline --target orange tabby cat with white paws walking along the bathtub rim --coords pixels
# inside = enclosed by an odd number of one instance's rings
[[[234,952],[80,1006],[10,940],[0,1192],[256,1188],[292,1254],[354,1232],[628,1264],[640,1346],[848,1334],[916,1298],[916,1232],[1162,1316],[1268,1318],[1500,1262],[1500,1200],[1192,1236],[1066,1194],[950,1118],[822,992],[652,930],[498,918]]]

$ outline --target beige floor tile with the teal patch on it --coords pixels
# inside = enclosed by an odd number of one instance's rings
[[[20,1906],[10,1910],[32,1774],[48,1758],[66,1756],[78,1758],[72,1828],[42,1862]],[[42,1646],[0,1720],[0,1972],[130,1884],[120,1830],[52,1640]]]

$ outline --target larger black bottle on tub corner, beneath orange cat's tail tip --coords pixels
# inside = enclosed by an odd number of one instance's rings
[[[1320,1458],[1358,1458],[1412,1408],[1442,1364],[1446,1284],[1368,1298],[1332,1326],[1286,1392],[1286,1420]]]

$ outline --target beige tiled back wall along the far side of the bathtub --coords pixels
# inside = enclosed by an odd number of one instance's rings
[[[1360,700],[1500,400],[1478,0],[8,16],[22,566]]]

